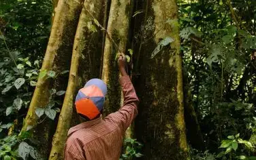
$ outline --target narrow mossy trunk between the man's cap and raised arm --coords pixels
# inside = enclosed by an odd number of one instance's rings
[[[118,51],[124,53],[126,51],[130,5],[130,0],[112,0],[110,5],[107,31],[111,38],[106,36],[102,70],[102,79],[108,84],[104,115],[117,111],[121,106],[121,88],[118,83],[118,66],[115,58]]]

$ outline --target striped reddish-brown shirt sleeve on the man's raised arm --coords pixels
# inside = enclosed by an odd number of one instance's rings
[[[108,115],[106,119],[110,119],[118,123],[118,126],[121,127],[121,130],[125,132],[129,125],[131,125],[131,122],[136,117],[136,115],[138,115],[137,106],[139,99],[136,95],[135,89],[129,76],[121,77],[120,83],[124,96],[123,106],[119,109],[119,111]]]

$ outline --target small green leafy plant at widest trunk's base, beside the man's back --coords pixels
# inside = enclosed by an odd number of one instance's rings
[[[131,160],[134,157],[142,157],[143,155],[139,152],[142,148],[142,144],[138,142],[136,139],[125,138],[124,148],[125,151],[122,154],[120,160]]]

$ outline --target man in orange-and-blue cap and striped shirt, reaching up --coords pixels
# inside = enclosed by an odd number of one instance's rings
[[[125,56],[119,56],[118,66],[124,102],[123,107],[101,118],[107,86],[100,79],[91,79],[76,97],[76,111],[85,122],[71,127],[65,145],[65,159],[117,160],[125,130],[138,114],[138,97],[125,70]]]

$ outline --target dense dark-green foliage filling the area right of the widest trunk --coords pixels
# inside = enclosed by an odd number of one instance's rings
[[[178,1],[185,75],[208,151],[194,159],[252,159],[255,146],[254,1]],[[246,9],[250,8],[250,9]],[[246,18],[245,18],[246,17]],[[236,22],[238,21],[238,22]],[[228,140],[222,141],[223,137]],[[236,141],[236,142],[234,142]],[[223,150],[223,157],[217,157]],[[225,153],[227,153],[225,155]],[[249,158],[250,157],[250,158]]]

